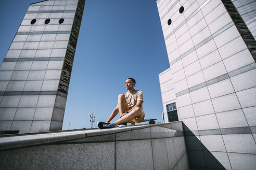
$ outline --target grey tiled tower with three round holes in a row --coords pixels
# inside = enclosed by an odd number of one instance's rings
[[[62,129],[85,0],[31,4],[0,67],[0,129]]]

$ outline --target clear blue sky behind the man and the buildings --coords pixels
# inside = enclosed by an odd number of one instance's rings
[[[0,1],[0,61],[31,3]],[[169,68],[156,0],[87,0],[76,46],[62,130],[91,128],[89,114],[106,121],[125,93],[125,79],[144,92],[145,119],[162,122],[158,74]],[[116,120],[116,119],[114,119]],[[94,127],[96,127],[96,122]]]

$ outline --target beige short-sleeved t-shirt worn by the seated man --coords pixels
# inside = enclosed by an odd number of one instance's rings
[[[134,90],[132,93],[127,91],[124,93],[124,96],[129,108],[134,107],[137,104],[137,101],[144,102],[143,92],[140,90]]]

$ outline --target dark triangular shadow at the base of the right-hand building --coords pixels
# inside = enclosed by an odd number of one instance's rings
[[[226,169],[182,122],[190,169]],[[198,133],[198,131],[197,131]],[[199,134],[198,134],[199,135]],[[214,142],[214,141],[212,141]]]

